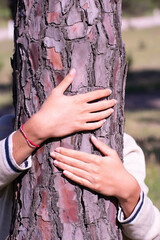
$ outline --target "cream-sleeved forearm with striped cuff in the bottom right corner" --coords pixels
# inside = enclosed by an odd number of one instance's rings
[[[147,240],[160,237],[160,212],[143,192],[129,218],[124,219],[123,212],[119,209],[118,221],[124,234],[130,239]]]

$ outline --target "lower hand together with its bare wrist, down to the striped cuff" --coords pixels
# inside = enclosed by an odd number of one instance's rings
[[[104,157],[59,147],[51,153],[54,164],[72,181],[105,196],[117,197],[128,217],[139,200],[139,184],[124,168],[115,150],[94,136],[91,141]]]

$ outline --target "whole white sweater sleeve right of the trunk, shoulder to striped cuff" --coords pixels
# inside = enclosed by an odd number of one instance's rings
[[[145,159],[142,150],[129,135],[124,136],[124,166],[141,186],[140,200],[129,218],[124,219],[122,209],[118,210],[118,221],[124,234],[130,239],[160,239],[160,213],[147,197],[148,188],[144,183]],[[156,238],[157,239],[157,238]]]

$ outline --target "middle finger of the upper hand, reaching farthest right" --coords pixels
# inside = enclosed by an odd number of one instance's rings
[[[114,105],[117,103],[115,99],[112,100],[103,100],[100,102],[96,103],[89,103],[88,104],[88,111],[90,112],[97,112],[97,111],[102,111],[107,108],[114,107]]]

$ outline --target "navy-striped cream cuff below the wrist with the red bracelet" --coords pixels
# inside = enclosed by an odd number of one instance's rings
[[[12,133],[9,137],[7,137],[4,142],[6,166],[7,168],[9,168],[15,173],[21,173],[32,166],[32,160],[31,160],[31,157],[29,157],[20,166],[16,163],[12,154],[12,150],[13,150],[12,135],[13,134],[14,133]]]

